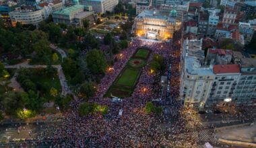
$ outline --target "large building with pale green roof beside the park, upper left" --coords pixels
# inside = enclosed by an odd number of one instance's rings
[[[83,27],[84,20],[89,20],[90,24],[93,24],[95,22],[94,11],[88,11],[91,9],[90,6],[85,5],[65,7],[64,9],[53,12],[53,22],[76,27]]]

